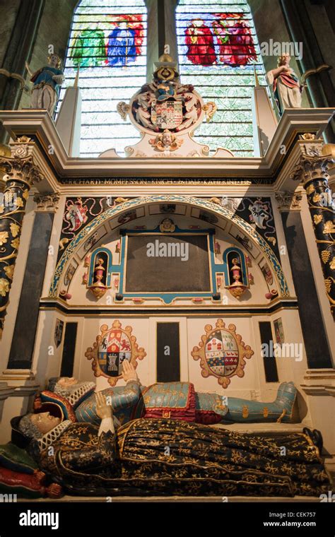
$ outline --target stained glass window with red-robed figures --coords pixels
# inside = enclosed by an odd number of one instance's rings
[[[253,156],[254,69],[266,85],[252,13],[246,0],[180,0],[177,35],[182,83],[193,84],[204,100],[218,106],[211,123],[194,134],[211,150]]]

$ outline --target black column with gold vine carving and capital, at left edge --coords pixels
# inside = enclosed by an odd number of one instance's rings
[[[25,205],[29,191],[42,179],[35,166],[28,146],[18,145],[11,157],[0,157],[1,169],[5,171],[3,199],[0,204],[0,339],[4,329],[9,292],[18,256]]]

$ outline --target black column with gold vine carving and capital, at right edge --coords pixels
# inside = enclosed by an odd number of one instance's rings
[[[327,169],[333,160],[321,155],[317,148],[306,149],[295,167],[292,179],[302,181],[306,193],[317,249],[324,273],[324,285],[331,307],[335,313],[335,211],[328,184]]]

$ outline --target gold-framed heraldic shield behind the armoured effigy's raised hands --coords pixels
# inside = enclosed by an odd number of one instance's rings
[[[146,351],[139,348],[136,337],[131,334],[131,326],[122,328],[122,324],[116,320],[112,328],[104,324],[100,328],[101,334],[93,343],[93,348],[86,350],[85,356],[93,360],[92,369],[95,377],[106,377],[110,386],[115,386],[122,378],[122,362],[128,360],[135,369],[137,360],[143,360]]]

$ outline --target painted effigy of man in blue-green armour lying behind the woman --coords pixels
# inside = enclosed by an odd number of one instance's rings
[[[122,425],[136,418],[175,418],[206,425],[289,422],[297,394],[293,382],[283,382],[279,386],[273,403],[196,392],[191,382],[163,382],[146,387],[141,385],[134,366],[127,360],[124,361],[123,377],[127,382],[125,387],[102,391],[110,401],[114,417]],[[61,406],[63,415],[72,421],[98,425],[94,386],[92,382],[60,379],[49,386],[53,391],[42,391],[37,396],[35,409],[39,411],[43,404],[53,403]]]

